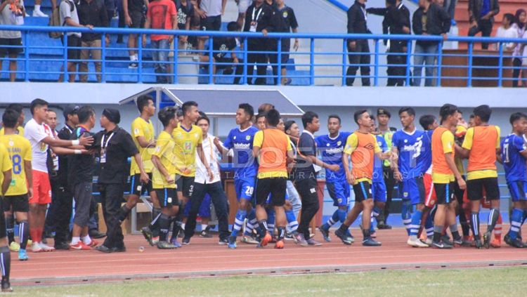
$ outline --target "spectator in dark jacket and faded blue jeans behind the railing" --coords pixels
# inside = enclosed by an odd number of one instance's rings
[[[441,35],[446,39],[450,30],[450,17],[443,7],[430,0],[419,0],[419,8],[412,16],[412,28],[416,35]],[[414,86],[421,85],[424,63],[424,86],[434,86],[434,65],[438,51],[437,41],[417,41],[414,51]]]

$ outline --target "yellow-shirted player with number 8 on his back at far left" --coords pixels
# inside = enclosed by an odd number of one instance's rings
[[[16,214],[18,223],[18,239],[20,239],[20,249],[18,250],[18,260],[27,260],[26,246],[27,238],[30,233],[30,226],[27,223],[27,212],[30,211],[28,197],[32,196],[33,184],[31,169],[31,144],[30,141],[18,134],[18,119],[20,115],[15,110],[6,110],[2,115],[4,123],[4,133],[0,136],[0,143],[7,148],[11,162],[13,163],[12,181],[4,196],[4,211],[6,218],[6,229],[9,241],[14,242],[14,222],[9,220],[13,213]],[[26,181],[27,180],[27,181]],[[28,190],[29,189],[29,190]]]

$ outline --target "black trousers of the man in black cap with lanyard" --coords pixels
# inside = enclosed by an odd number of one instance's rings
[[[99,184],[100,203],[103,205],[103,216],[106,223],[106,239],[103,243],[109,249],[124,247],[124,236],[121,224],[117,219],[121,203],[124,202],[124,184]]]

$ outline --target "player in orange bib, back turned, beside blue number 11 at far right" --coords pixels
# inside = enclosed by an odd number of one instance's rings
[[[467,130],[460,153],[468,157],[467,196],[471,204],[470,226],[474,234],[476,248],[490,247],[490,235],[500,216],[500,187],[497,184],[496,157],[500,154],[500,127],[488,124],[492,110],[488,105],[474,108],[474,124]],[[479,233],[479,209],[483,190],[490,200],[487,231],[483,234],[483,244]]]

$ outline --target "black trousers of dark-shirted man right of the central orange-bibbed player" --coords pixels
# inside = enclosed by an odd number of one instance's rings
[[[302,233],[306,239],[309,239],[309,223],[318,212],[317,181],[313,178],[299,180],[295,183],[298,193],[302,199],[302,210],[298,232]]]

